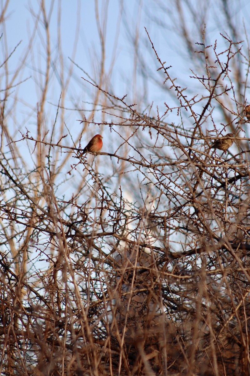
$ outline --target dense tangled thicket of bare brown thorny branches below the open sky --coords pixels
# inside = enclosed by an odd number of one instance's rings
[[[84,114],[81,129],[102,133],[99,155],[73,158],[85,136],[77,144],[69,129],[55,131],[62,99],[46,124],[47,81],[36,138],[27,129],[12,139],[6,88],[1,374],[250,374],[249,124],[246,82],[234,77],[238,56],[248,61],[223,38],[220,53],[200,42],[205,70],[189,97],[149,37],[179,102],[158,117],[89,83],[104,115]],[[225,124],[214,124],[214,109]],[[219,133],[234,134],[228,152],[211,149]]]

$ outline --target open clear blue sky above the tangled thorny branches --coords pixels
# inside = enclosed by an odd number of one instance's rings
[[[145,33],[144,27],[150,33],[151,39],[162,61],[167,65],[172,65],[170,70],[173,77],[178,77],[180,83],[186,83],[187,93],[190,96],[196,94],[199,86],[196,86],[194,80],[190,79],[190,68],[195,69],[195,63],[190,60],[189,52],[179,36],[177,14],[175,12],[175,1],[167,3],[162,1],[99,1],[98,16],[101,27],[105,30],[105,82],[107,88],[118,97],[127,95],[127,101],[138,103],[141,111],[153,103],[151,114],[156,114],[157,107],[160,114],[165,111],[164,102],[168,105],[176,105],[173,97],[168,91],[164,90],[163,79],[157,78],[157,83],[153,79],[147,79],[140,74],[141,71],[139,59],[136,60],[134,54],[134,39],[138,35],[138,53],[143,56],[144,63],[150,68],[152,76],[159,77],[156,56],[151,49],[150,42]],[[226,2],[233,14],[233,23],[236,24],[237,31],[244,31],[244,21],[246,22],[246,31],[249,30],[249,7],[247,1],[229,1]],[[21,59],[27,51],[30,37],[34,30],[34,24],[39,12],[38,1],[29,2],[10,2],[6,12],[5,28],[2,30],[3,38],[1,44],[1,60],[16,47],[9,59],[10,76],[19,66]],[[85,83],[81,77],[87,78],[81,69],[72,66],[69,57],[79,65],[94,80],[98,79],[99,66],[101,60],[101,45],[97,30],[97,12],[94,1],[45,1],[46,14],[49,15],[50,44],[52,51],[51,76],[49,91],[46,97],[46,121],[50,122],[48,128],[53,124],[56,114],[56,105],[58,104],[60,92],[62,90],[59,76],[60,71],[64,70],[64,84],[67,80],[67,74],[72,68],[71,83],[66,91],[64,111],[64,121],[70,129],[79,129],[77,120],[81,120],[78,111],[73,111],[74,106],[80,109],[89,110],[91,108],[91,98],[93,87]],[[165,5],[166,4],[166,5]],[[181,2],[184,4],[184,2]],[[226,46],[225,40],[220,33],[226,33],[228,25],[223,21],[218,2],[210,1],[206,3],[191,2],[201,6],[200,19],[196,22],[190,17],[190,9],[184,6],[183,17],[186,26],[191,30],[193,40],[199,41],[196,33],[199,24],[204,27],[202,12],[209,9],[208,16],[205,18],[207,39],[213,43],[217,39],[219,48],[223,50]],[[107,11],[105,10],[107,5]],[[2,5],[3,6],[3,3]],[[206,8],[207,7],[207,8]],[[121,12],[122,10],[122,12]],[[192,11],[192,9],[191,9]],[[60,15],[60,16],[58,16]],[[42,18],[42,17],[41,17]],[[60,20],[60,22],[59,22]],[[250,30],[249,30],[250,31]],[[58,49],[58,36],[60,35],[61,46]],[[242,35],[242,34],[241,34]],[[244,35],[243,35],[244,39]],[[18,101],[15,117],[9,119],[9,126],[13,122],[13,135],[17,134],[18,129],[24,130],[25,127],[32,132],[36,128],[36,105],[40,100],[39,86],[43,83],[43,71],[46,66],[46,46],[45,30],[42,22],[39,20],[38,29],[32,44],[32,52],[28,53],[28,58],[19,72],[19,77],[15,83],[27,79],[18,88],[13,89],[11,97]],[[247,46],[247,41],[244,42]],[[198,47],[192,44],[193,50]],[[112,65],[113,64],[113,65]],[[4,74],[2,73],[2,86],[4,85]],[[103,85],[104,85],[103,84]],[[105,85],[104,85],[105,86]],[[3,94],[2,94],[3,95]],[[250,94],[247,92],[246,96]],[[72,104],[73,102],[73,104]],[[9,101],[10,109],[12,102]],[[97,113],[96,116],[98,116]],[[173,112],[167,117],[167,121],[178,123],[180,118],[176,117],[177,112]],[[214,113],[216,121],[220,123],[220,114]],[[101,117],[101,115],[100,115]],[[187,120],[188,121],[188,120]],[[189,124],[191,125],[191,124]],[[209,126],[209,125],[208,125]],[[35,130],[34,130],[35,132]],[[91,132],[90,132],[91,133]],[[86,135],[86,138],[88,135]]]

